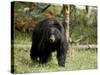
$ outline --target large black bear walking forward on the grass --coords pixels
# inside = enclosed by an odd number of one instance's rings
[[[38,23],[32,34],[30,57],[46,63],[53,51],[57,52],[59,66],[65,66],[66,45],[64,27],[57,20],[48,18]]]

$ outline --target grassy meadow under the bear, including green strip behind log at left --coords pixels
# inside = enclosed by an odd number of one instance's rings
[[[56,52],[52,53],[51,60],[46,64],[39,64],[30,59],[32,33],[16,30],[14,40],[14,73],[38,73],[97,69],[97,48],[72,48],[66,55],[65,67],[57,64]],[[18,46],[19,45],[19,46]]]

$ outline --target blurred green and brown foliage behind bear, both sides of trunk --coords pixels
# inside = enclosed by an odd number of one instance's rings
[[[24,12],[24,8],[29,7],[29,4],[31,5],[31,8],[33,10],[29,12],[29,14],[26,14]],[[63,13],[62,13],[62,5],[50,5],[44,12],[42,12],[43,8],[48,6],[49,4],[43,5],[43,4],[31,4],[31,3],[24,3],[24,2],[15,2],[14,7],[14,25],[16,29],[19,29],[20,31],[17,33],[15,40],[21,41],[19,38],[23,38],[20,35],[23,36],[26,35],[26,37],[30,33],[22,33],[23,30],[30,28],[34,29],[35,25],[45,18],[47,18],[48,11],[52,11],[55,18],[62,23],[63,22]],[[85,7],[85,6],[84,6]],[[97,44],[97,10],[95,7],[90,6],[91,9],[89,9],[89,13],[86,12],[86,9],[80,9],[77,8],[77,6],[71,5],[70,6],[70,20],[69,20],[69,32],[70,32],[70,38],[74,43],[79,40],[78,44]],[[26,38],[24,37],[24,38]],[[31,34],[30,34],[31,37]],[[23,39],[24,39],[23,38]],[[27,40],[30,39],[29,37]],[[31,42],[27,41],[26,39],[24,42]],[[15,41],[15,42],[16,42]],[[23,43],[24,43],[23,42]],[[18,42],[20,43],[20,42]]]

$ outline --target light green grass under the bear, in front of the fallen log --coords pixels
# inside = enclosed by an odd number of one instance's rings
[[[52,59],[47,64],[32,62],[29,54],[30,48],[14,49],[14,73],[54,72],[97,68],[96,49],[72,49],[72,51],[67,54],[65,68],[57,65],[56,53],[52,54]]]

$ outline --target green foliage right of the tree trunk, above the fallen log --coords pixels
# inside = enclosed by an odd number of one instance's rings
[[[76,10],[75,10],[76,9]],[[87,14],[85,9],[72,7],[70,14],[70,36],[79,44],[97,44],[97,11],[91,9]]]

